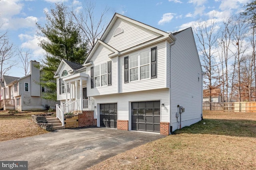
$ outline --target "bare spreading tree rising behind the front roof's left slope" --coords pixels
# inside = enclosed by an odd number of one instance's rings
[[[105,16],[109,8],[105,7],[101,12],[97,11],[97,13],[100,13],[100,17],[96,20],[96,17],[94,16],[94,13],[96,12],[95,4],[92,1],[87,0],[84,0],[84,2],[86,4],[83,8],[84,11],[77,12],[72,9],[72,15],[76,20],[75,24],[81,29],[84,37],[90,42],[89,48],[91,49],[105,29]]]

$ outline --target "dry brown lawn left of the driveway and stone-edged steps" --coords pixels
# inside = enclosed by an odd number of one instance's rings
[[[8,141],[21,137],[28,137],[48,133],[32,121],[32,114],[42,111],[24,112],[10,115],[6,111],[0,112],[0,141]]]

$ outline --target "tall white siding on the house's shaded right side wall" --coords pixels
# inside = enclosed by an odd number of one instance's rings
[[[177,105],[183,106],[182,127],[196,123],[202,113],[202,69],[191,29],[175,35],[176,43],[171,47],[171,122],[177,129],[175,114]],[[186,50],[184,50],[186,49]]]

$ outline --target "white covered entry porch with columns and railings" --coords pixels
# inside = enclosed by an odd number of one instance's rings
[[[62,78],[61,86],[65,100],[61,100],[60,105],[56,105],[56,117],[64,125],[65,113],[82,113],[83,111],[92,111],[92,99],[87,96],[88,74],[76,73]],[[90,80],[90,79],[89,79]]]

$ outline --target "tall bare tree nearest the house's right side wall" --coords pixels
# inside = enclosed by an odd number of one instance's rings
[[[217,63],[216,63],[216,42],[218,39],[218,31],[216,29],[216,21],[214,19],[208,21],[198,21],[195,25],[195,34],[198,38],[198,49],[202,61],[202,66],[206,71],[204,75],[204,84],[207,89],[209,89],[210,99],[211,101],[211,93],[212,89],[219,86],[217,84],[218,81],[218,73],[217,73]]]

